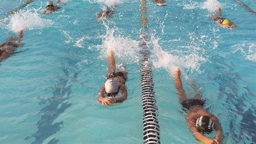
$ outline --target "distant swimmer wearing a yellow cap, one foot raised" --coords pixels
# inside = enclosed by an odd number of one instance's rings
[[[236,25],[234,24],[234,22],[231,22],[231,21],[228,20],[228,19],[222,18],[222,14],[221,14],[220,7],[217,7],[217,8],[216,8],[216,11],[218,12],[218,16],[212,15],[212,16],[211,16],[211,19],[212,19],[213,21],[215,21],[216,24],[217,24],[219,27],[222,27],[222,28],[230,28],[230,29],[233,29],[233,28],[236,27]]]

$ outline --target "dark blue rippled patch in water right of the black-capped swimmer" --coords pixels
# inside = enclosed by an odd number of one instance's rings
[[[221,69],[233,71],[227,65],[222,65]],[[250,97],[255,97],[255,94],[248,87],[237,84],[238,81],[243,81],[237,73],[226,73],[225,71],[219,71],[219,73],[214,77],[214,81],[219,84],[219,97],[225,96],[226,98],[225,109],[227,111],[223,112],[226,113],[227,121],[229,121],[229,127],[222,125],[223,134],[228,137],[228,143],[255,143],[256,110],[255,103],[249,101]]]

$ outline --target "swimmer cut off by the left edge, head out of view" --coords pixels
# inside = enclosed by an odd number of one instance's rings
[[[22,37],[23,30],[20,30],[18,37],[10,36],[5,43],[0,44],[0,62],[9,58],[23,44],[21,43]]]

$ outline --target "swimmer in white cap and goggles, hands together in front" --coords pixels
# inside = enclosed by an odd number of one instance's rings
[[[122,102],[127,98],[127,89],[125,86],[127,72],[116,69],[114,52],[112,50],[110,50],[108,54],[108,65],[107,81],[105,85],[100,88],[98,96],[98,100],[103,106]],[[121,91],[121,96],[116,97],[119,91]],[[105,97],[105,95],[107,97]]]

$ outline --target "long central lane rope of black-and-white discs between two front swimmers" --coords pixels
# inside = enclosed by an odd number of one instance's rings
[[[143,143],[159,144],[159,124],[157,120],[158,108],[156,106],[154,82],[152,78],[152,71],[149,64],[149,46],[147,44],[147,2],[141,0],[141,29],[140,29],[140,43],[141,48],[141,78],[140,84],[142,87],[141,101],[143,109]]]

